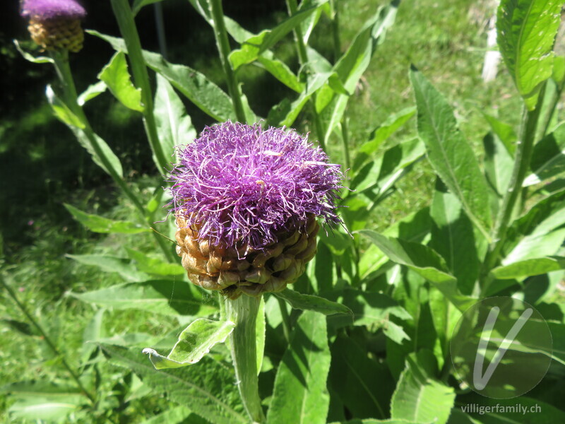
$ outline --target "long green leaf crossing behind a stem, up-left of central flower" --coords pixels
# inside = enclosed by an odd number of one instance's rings
[[[93,30],[87,33],[109,42],[115,50],[127,53],[126,45],[121,38],[110,37]],[[230,97],[202,73],[189,66],[171,64],[160,54],[146,50],[143,50],[143,59],[147,66],[167,78],[174,88],[210,117],[218,121],[236,120]]]

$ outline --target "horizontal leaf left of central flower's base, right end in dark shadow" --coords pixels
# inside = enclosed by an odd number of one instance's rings
[[[126,283],[71,295],[83,302],[117,310],[143,310],[174,317],[179,314],[204,317],[217,311],[215,305],[205,304],[201,293],[184,281]]]

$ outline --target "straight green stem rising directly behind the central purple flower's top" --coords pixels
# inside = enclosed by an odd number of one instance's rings
[[[210,0],[210,9],[212,11],[214,35],[218,52],[220,53],[220,61],[224,68],[225,78],[227,82],[227,91],[230,93],[234,112],[239,122],[246,122],[245,111],[242,102],[242,92],[239,90],[239,83],[235,76],[235,72],[230,64],[228,56],[232,49],[230,48],[230,40],[227,39],[227,30],[225,29],[224,11],[222,8],[222,0]],[[252,124],[252,122],[251,122]]]

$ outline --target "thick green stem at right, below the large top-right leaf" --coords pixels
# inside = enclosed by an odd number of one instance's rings
[[[516,201],[518,201],[519,194],[521,193],[522,184],[528,167],[530,166],[530,159],[535,142],[535,134],[537,124],[540,118],[540,110],[542,108],[543,93],[545,85],[543,86],[540,97],[537,100],[537,105],[534,110],[525,109],[523,112],[522,124],[520,129],[520,137],[518,139],[518,146],[516,148],[516,155],[514,158],[514,166],[510,180],[509,190],[504,195],[502,206],[499,211],[499,216],[496,218],[496,226],[494,227],[494,242],[489,247],[486,257],[484,258],[482,271],[481,271],[481,295],[487,294],[491,280],[488,278],[489,272],[496,266],[499,261],[499,256],[506,241],[506,232],[509,228],[509,223],[512,217]]]

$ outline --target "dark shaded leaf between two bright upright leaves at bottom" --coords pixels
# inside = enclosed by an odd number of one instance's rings
[[[352,416],[388,417],[394,379],[388,367],[344,335],[331,346],[331,388]]]

